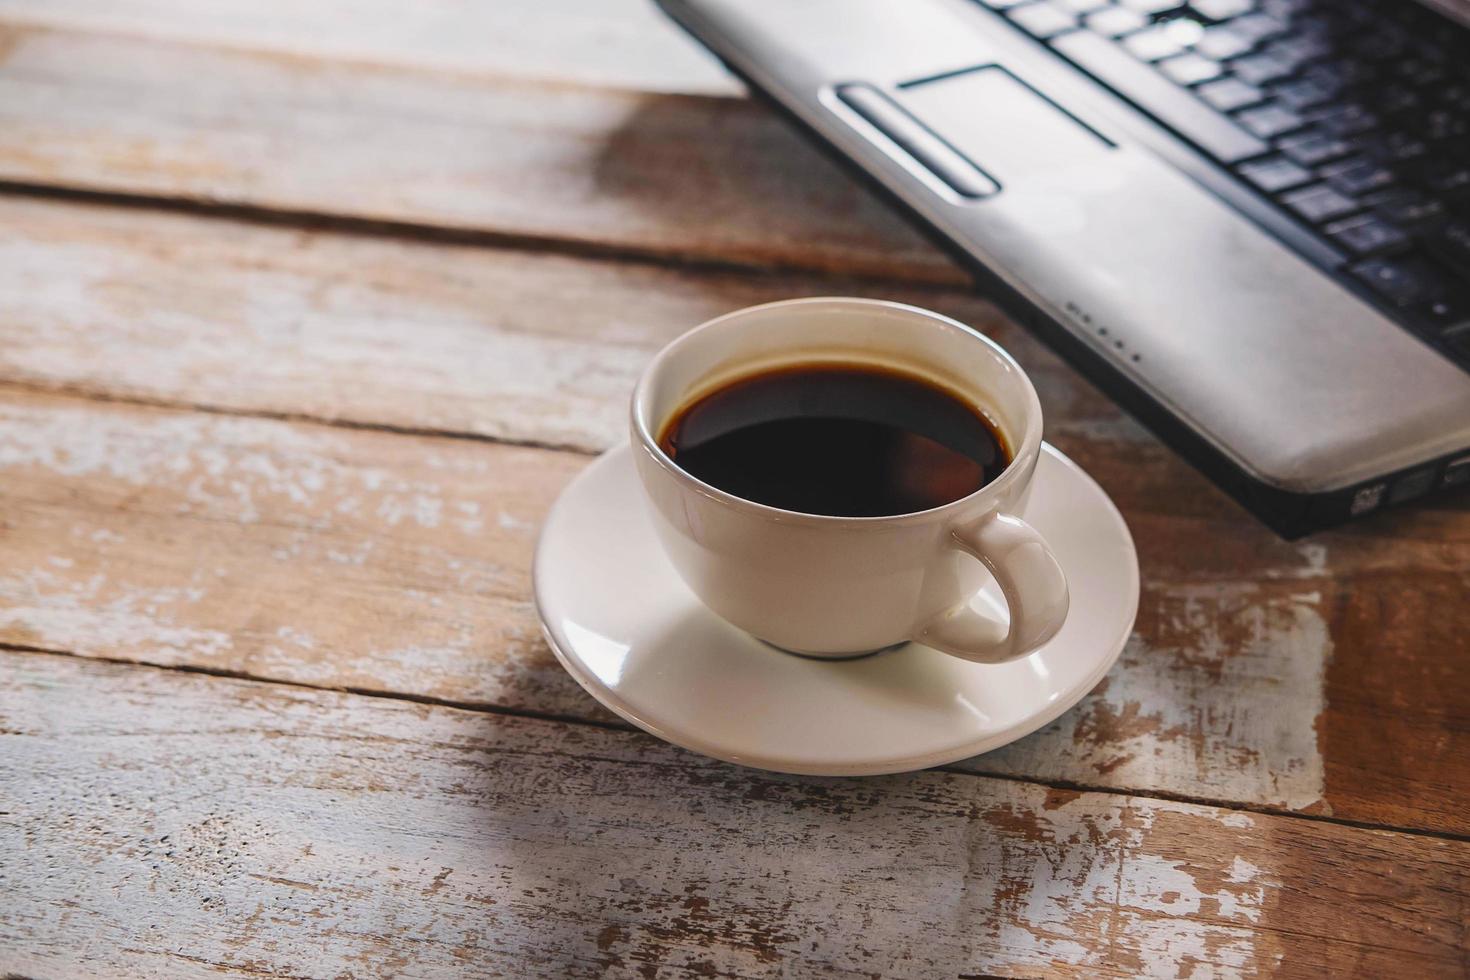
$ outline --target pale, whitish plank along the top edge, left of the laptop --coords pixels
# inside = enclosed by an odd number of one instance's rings
[[[310,60],[644,91],[741,93],[651,0],[0,0],[0,21]]]

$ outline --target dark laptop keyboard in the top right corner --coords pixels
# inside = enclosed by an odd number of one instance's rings
[[[1470,29],[1411,0],[980,0],[1347,254],[1470,367]]]

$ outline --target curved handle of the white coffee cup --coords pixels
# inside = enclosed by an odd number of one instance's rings
[[[917,642],[960,660],[1000,664],[1025,657],[1057,635],[1070,602],[1067,576],[1030,525],[1011,514],[991,514],[956,527],[950,544],[995,576],[1010,608],[1010,629],[998,638],[1001,624],[972,611],[966,601],[920,627]]]

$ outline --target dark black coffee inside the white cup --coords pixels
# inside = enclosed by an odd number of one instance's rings
[[[759,504],[883,517],[973,494],[1010,463],[991,422],[913,375],[808,364],[742,378],[682,408],[659,445]]]

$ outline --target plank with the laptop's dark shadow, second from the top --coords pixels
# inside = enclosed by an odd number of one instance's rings
[[[0,179],[967,281],[742,98],[0,31]]]

